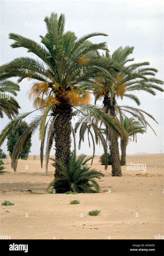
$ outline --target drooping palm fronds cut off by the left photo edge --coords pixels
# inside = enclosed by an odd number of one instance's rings
[[[0,81],[0,118],[3,118],[3,113],[5,113],[9,119],[12,119],[12,117],[19,113],[18,109],[20,109],[20,106],[11,96],[17,96],[16,92],[18,91],[18,84],[10,80]]]

